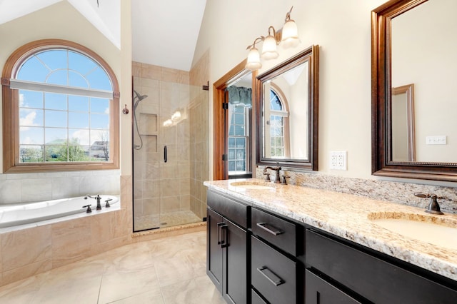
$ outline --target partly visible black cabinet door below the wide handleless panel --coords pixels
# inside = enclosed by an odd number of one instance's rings
[[[311,271],[306,270],[306,304],[356,304],[360,303],[346,295]]]

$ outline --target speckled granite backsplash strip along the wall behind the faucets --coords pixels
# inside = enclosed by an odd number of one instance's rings
[[[263,176],[262,171],[263,167],[257,167],[256,176]],[[420,208],[428,204],[428,199],[418,198],[414,196],[414,193],[435,193],[437,196],[443,197],[438,200],[443,212],[457,214],[457,188],[453,187],[366,180],[362,178],[347,178],[328,176],[321,173],[301,173],[295,171],[281,171],[281,175],[283,174],[290,176],[290,178],[287,178],[287,183],[290,185],[366,196],[376,200],[401,203]]]

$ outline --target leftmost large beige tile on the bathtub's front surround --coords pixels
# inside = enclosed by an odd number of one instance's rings
[[[48,260],[51,258],[51,226],[4,233],[1,250],[3,272]]]

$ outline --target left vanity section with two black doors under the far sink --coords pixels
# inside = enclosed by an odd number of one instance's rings
[[[248,303],[248,213],[245,204],[208,192],[206,273],[228,303]]]

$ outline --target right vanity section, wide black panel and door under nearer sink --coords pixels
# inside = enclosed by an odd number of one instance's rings
[[[457,302],[455,281],[317,229],[306,230],[306,265],[306,303]]]

